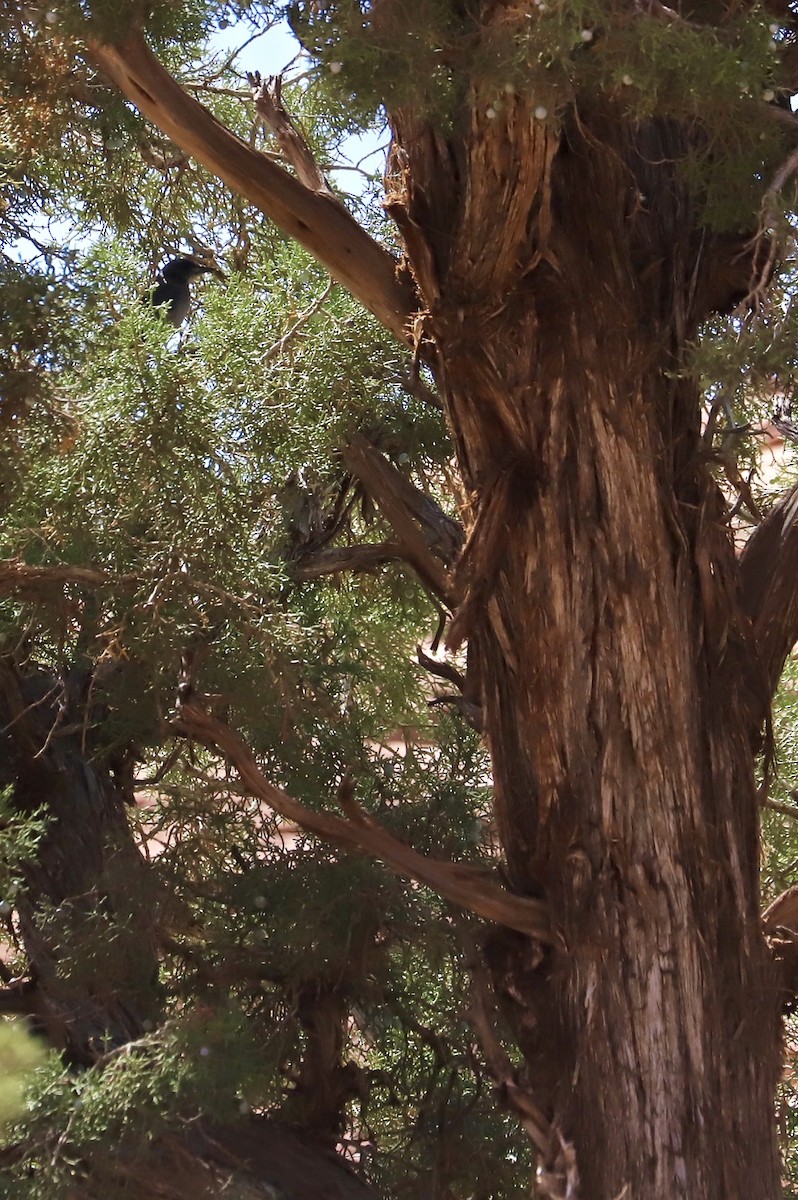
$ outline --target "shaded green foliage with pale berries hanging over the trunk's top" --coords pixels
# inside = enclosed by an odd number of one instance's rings
[[[718,24],[602,0],[535,0],[490,23],[452,0],[289,12],[323,67],[319,94],[360,119],[384,106],[463,127],[474,104],[498,115],[520,94],[541,120],[598,106],[631,124],[685,124],[694,148],[680,166],[716,228],[750,224],[763,172],[785,154],[763,103],[779,90],[782,35],[764,11]]]

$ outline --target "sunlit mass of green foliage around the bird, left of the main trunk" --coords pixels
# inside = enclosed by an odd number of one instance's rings
[[[247,132],[236,101],[211,101]],[[322,158],[352,126],[317,95],[304,121]],[[76,576],[35,608],[5,600],[0,629],[8,649],[24,644],[26,661],[56,673],[94,666],[86,752],[98,763],[133,754],[154,781],[139,785],[132,818],[156,854],[162,1014],[139,1039],[103,1044],[90,1069],[42,1068],[8,1135],[23,1166],[4,1188],[58,1200],[86,1168],[103,1177],[109,1156],[136,1156],[200,1110],[301,1120],[296,1080],[313,1038],[304,997],[318,992],[352,1014],[342,1063],[360,1082],[342,1134],[377,1142],[371,1171],[388,1190],[427,1187],[438,1146],[454,1194],[521,1194],[527,1152],[479,1078],[446,906],[287,833],[168,727],[190,650],[197,686],[218,697],[270,780],[329,809],[353,773],[359,803],[418,848],[485,859],[485,752],[460,718],[431,720],[415,665],[434,606],[401,569],[301,583],[294,568],[326,545],[332,511],[337,545],[391,535],[341,462],[355,433],[451,505],[440,414],[406,391],[409,356],[304,252],[194,168],[151,166],[162,148],[125,106],[79,113],[67,145],[68,157],[31,144],[24,186],[8,193],[14,220],[58,206],[72,246],[40,271],[10,263],[6,274],[36,389],[8,408],[0,558],[90,569],[95,582]],[[143,298],[164,248],[194,242],[216,248],[227,277],[196,284],[191,324],[174,334]],[[397,730],[406,752],[386,740]],[[34,852],[16,838],[18,858]],[[40,904],[73,986],[127,979],[130,996],[139,985],[120,902],[77,924],[68,905]],[[496,1146],[508,1148],[500,1170]]]

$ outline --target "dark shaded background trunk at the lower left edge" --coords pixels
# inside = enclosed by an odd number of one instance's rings
[[[121,790],[86,752],[91,719],[76,676],[0,660],[0,787],[12,786],[22,816],[48,822],[14,898],[30,964],[17,1010],[67,1060],[91,1063],[157,1016],[157,889]],[[11,1008],[14,991],[4,1000]]]

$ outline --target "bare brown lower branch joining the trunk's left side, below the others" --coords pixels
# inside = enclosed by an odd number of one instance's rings
[[[548,911],[541,901],[505,892],[479,868],[425,858],[376,824],[343,790],[340,799],[347,818],[305,808],[287,792],[270,784],[238,733],[205,713],[199,704],[193,702],[181,704],[174,728],[184,737],[196,738],[205,745],[218,749],[235,767],[241,782],[253,796],[308,833],[344,850],[379,858],[397,875],[432,888],[445,900],[467,912],[476,913],[485,920],[506,925],[540,942],[552,941]]]

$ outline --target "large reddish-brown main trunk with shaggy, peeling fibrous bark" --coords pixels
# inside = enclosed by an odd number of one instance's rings
[[[510,878],[559,931],[536,968],[515,934],[488,959],[554,1132],[541,1194],[766,1200],[754,647],[673,373],[719,302],[712,239],[674,126],[530,108],[478,94],[446,142],[396,114],[389,202],[468,487],[452,638]]]

